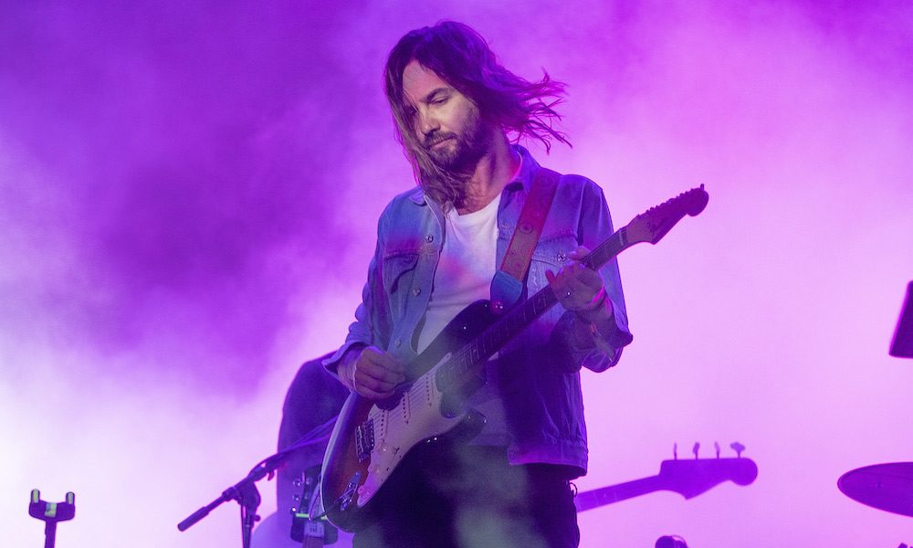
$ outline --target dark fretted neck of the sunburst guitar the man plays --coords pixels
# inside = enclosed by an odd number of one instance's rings
[[[628,242],[625,228],[620,228],[602,244],[594,248],[586,258],[583,258],[582,263],[591,269],[599,269],[624,251],[624,249],[637,243]],[[519,306],[508,311],[498,321],[492,323],[488,329],[479,334],[475,340],[467,343],[466,346],[456,352],[450,362],[437,372],[436,382],[438,386],[454,385],[459,379],[465,378],[467,374],[477,371],[489,357],[503,348],[519,332],[526,329],[530,323],[539,318],[543,312],[549,310],[557,302],[558,298],[555,296],[555,292],[551,290],[551,286],[548,286],[523,301]]]

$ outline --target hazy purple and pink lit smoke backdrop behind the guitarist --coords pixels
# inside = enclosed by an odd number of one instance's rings
[[[36,487],[77,494],[60,546],[240,542],[234,504],[175,524],[272,451],[299,363],[341,342],[413,184],[383,60],[440,18],[570,84],[574,148],[533,152],[601,184],[617,226],[711,196],[620,260],[635,343],[584,373],[578,486],[716,440],[759,479],[585,512],[582,546],[911,542],[835,482],[913,460],[913,363],[887,356],[913,279],[913,5],[593,0],[0,3],[4,544],[41,542]]]

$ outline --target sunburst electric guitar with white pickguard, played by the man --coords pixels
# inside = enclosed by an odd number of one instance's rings
[[[702,212],[707,202],[703,185],[677,195],[636,216],[582,263],[598,269],[637,243],[656,244],[684,216]],[[484,382],[480,373],[486,360],[557,302],[551,287],[500,314],[490,310],[488,300],[478,300],[406,365],[407,381],[393,396],[374,402],[349,395],[323,459],[320,494],[330,521],[356,531],[367,517],[368,502],[410,449],[479,422],[479,415],[461,402]]]

